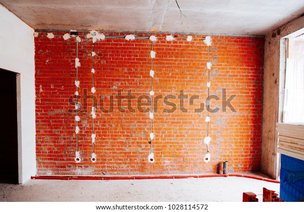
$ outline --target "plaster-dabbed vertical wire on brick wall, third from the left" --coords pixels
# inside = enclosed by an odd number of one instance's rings
[[[154,140],[154,133],[153,133],[153,118],[154,118],[154,114],[153,114],[153,95],[154,95],[154,91],[153,91],[153,78],[154,78],[154,70],[153,70],[153,59],[155,58],[156,52],[153,50],[154,47],[154,41],[156,41],[156,37],[150,36],[149,38],[152,41],[151,44],[151,51],[150,51],[150,57],[151,57],[151,69],[150,69],[150,100],[151,100],[151,110],[149,112],[149,118],[151,120],[150,123],[150,154],[148,156],[148,162],[149,163],[154,163],[155,162],[155,158],[154,158],[154,153],[153,153],[153,140]]]

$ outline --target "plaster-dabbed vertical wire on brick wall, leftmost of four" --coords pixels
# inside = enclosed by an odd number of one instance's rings
[[[78,43],[79,43],[79,39],[76,39],[76,43],[77,43],[77,49],[76,49],[76,58],[75,58],[75,68],[76,68],[76,80],[75,80],[75,86],[76,86],[76,103],[75,103],[75,110],[77,110],[77,115],[75,116],[75,122],[76,122],[76,127],[75,127],[75,133],[76,133],[76,145],[77,145],[77,151],[75,152],[75,163],[80,163],[81,162],[81,157],[80,157],[80,151],[79,151],[79,125],[78,122],[80,121],[80,117],[79,117],[79,109],[80,109],[80,103],[78,102],[79,98],[79,85],[80,85],[80,81],[78,79],[78,67],[80,66],[80,62],[79,62],[79,58],[78,58]]]

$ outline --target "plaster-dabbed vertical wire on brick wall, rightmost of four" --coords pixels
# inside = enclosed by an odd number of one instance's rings
[[[211,69],[211,63],[210,63],[210,45],[211,45],[211,37],[207,36],[204,40],[204,42],[207,44],[207,57],[208,57],[208,62],[207,62],[207,102],[206,102],[206,107],[207,107],[207,117],[205,119],[206,122],[206,137],[204,138],[204,143],[206,144],[206,154],[204,157],[204,161],[205,162],[209,162],[210,161],[210,153],[209,153],[209,144],[211,141],[211,137],[209,136],[209,121],[210,121],[210,117],[209,117],[209,110],[210,110],[210,98],[209,98],[209,94],[210,94],[210,69]]]

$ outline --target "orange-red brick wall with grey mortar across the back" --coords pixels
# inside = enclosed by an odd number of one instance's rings
[[[92,100],[85,103],[84,97],[91,95],[92,39],[82,37],[79,43],[79,94],[82,103],[79,150],[83,162],[75,164],[75,114],[69,113],[69,110],[74,109],[69,103],[69,97],[75,92],[75,38],[64,40],[62,36],[55,36],[49,39],[41,35],[35,38],[37,174],[207,174],[216,173],[225,160],[229,161],[230,173],[258,171],[264,39],[211,37],[210,94],[220,98],[211,101],[212,108],[220,108],[217,113],[209,115],[211,161],[203,161],[206,153],[203,140],[206,136],[207,111],[194,112],[207,96],[207,45],[199,39],[188,42],[184,39],[166,41],[160,38],[154,44],[157,55],[154,60],[153,90],[155,95],[176,95],[176,99],[169,101],[175,102],[177,109],[174,113],[165,113],[163,109],[171,109],[171,106],[164,105],[164,99],[158,100],[158,112],[154,114],[153,120],[156,135],[154,164],[147,162],[150,133],[148,113],[140,113],[138,109],[135,113],[121,113],[117,109],[116,98],[114,112],[102,113],[100,109],[102,96],[105,108],[108,109],[109,97],[117,96],[119,90],[123,94],[132,90],[132,95],[136,97],[149,95],[151,41],[127,41],[121,38],[95,43],[97,162],[91,163]],[[226,88],[226,99],[236,95],[231,101],[236,112],[229,108],[223,112],[222,88]],[[194,105],[189,105],[189,98],[184,100],[187,113],[179,109],[177,95],[182,89],[189,97],[200,97],[194,101]],[[87,110],[84,110],[86,105]],[[123,107],[127,107],[127,100],[123,101]],[[132,100],[132,107],[136,108],[136,99]]]

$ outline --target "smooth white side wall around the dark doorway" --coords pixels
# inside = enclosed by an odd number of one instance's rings
[[[0,68],[20,73],[17,77],[19,183],[36,174],[33,32],[0,5]]]

